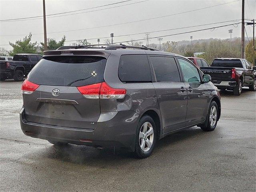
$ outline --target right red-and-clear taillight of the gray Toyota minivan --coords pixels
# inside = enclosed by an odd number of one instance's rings
[[[81,86],[77,89],[85,98],[90,99],[122,99],[126,94],[126,89],[112,88],[106,82]]]

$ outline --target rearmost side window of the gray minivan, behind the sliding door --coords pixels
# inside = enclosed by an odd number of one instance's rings
[[[123,82],[151,82],[148,58],[145,55],[122,55],[118,76]]]

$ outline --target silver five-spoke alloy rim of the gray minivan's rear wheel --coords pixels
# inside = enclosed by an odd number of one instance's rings
[[[139,144],[142,151],[150,150],[154,140],[154,129],[150,122],[145,122],[140,128]]]

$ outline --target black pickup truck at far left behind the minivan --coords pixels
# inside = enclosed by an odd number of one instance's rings
[[[22,81],[41,58],[38,54],[15,54],[12,61],[0,60],[0,80]]]

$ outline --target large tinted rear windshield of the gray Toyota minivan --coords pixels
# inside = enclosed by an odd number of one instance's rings
[[[84,86],[103,82],[106,58],[97,56],[46,56],[28,75],[40,85]]]

